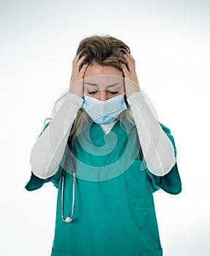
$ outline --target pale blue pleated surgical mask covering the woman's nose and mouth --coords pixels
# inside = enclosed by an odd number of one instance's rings
[[[84,94],[82,109],[85,110],[96,124],[110,124],[127,108],[124,94],[105,101]]]

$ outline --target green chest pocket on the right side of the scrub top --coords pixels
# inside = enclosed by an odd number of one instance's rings
[[[126,171],[126,197],[133,207],[154,206],[152,184],[146,170],[141,170],[141,160],[133,160]]]

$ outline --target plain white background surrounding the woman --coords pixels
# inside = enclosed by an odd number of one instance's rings
[[[210,255],[209,3],[0,1],[1,255],[50,255],[56,189],[24,189],[28,159],[52,103],[69,86],[79,41],[92,34],[130,46],[140,86],[176,141],[183,191],[154,195],[164,255]]]

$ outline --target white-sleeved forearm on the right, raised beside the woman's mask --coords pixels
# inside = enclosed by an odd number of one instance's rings
[[[128,104],[131,106],[149,171],[156,176],[166,175],[176,163],[171,141],[152,114],[141,91],[131,94],[128,97]]]

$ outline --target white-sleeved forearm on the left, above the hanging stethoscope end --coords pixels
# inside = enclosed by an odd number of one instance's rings
[[[69,132],[82,102],[81,97],[67,94],[50,125],[36,140],[31,150],[30,165],[33,173],[39,178],[49,178],[58,170]]]

